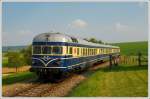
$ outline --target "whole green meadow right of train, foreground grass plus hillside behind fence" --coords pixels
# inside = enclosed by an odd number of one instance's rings
[[[141,52],[148,56],[148,42],[128,42],[113,44],[121,49],[121,56],[137,57]],[[137,61],[137,60],[136,60]],[[147,97],[148,96],[148,65],[138,66],[130,59],[127,63],[88,71],[87,79],[75,87],[68,96],[70,97]]]

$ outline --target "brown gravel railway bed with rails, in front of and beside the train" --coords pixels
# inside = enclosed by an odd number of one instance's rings
[[[97,70],[101,67],[107,66],[108,63],[103,63],[99,65],[95,65],[89,70]],[[67,79],[59,83],[48,83],[48,82],[40,82],[37,80],[31,80],[28,83],[24,83],[24,88],[20,87],[17,91],[8,94],[4,94],[3,96],[11,96],[11,97],[47,97],[47,96],[66,96],[73,87],[79,84],[81,81],[86,79],[86,76],[83,72],[81,74],[73,74]],[[15,87],[15,86],[14,86]],[[16,88],[18,88],[16,87]]]

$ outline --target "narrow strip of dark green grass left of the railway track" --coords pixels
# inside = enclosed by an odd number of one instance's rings
[[[8,76],[2,77],[2,85],[13,84],[21,81],[25,81],[31,78],[35,78],[36,74],[31,72],[14,73]]]

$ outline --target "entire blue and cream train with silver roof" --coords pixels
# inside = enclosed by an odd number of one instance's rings
[[[118,57],[118,46],[96,44],[63,33],[42,33],[33,38],[31,72],[39,78],[60,79],[94,63]]]

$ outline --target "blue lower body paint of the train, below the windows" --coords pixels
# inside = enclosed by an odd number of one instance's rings
[[[112,54],[113,56],[118,56],[119,53]],[[59,69],[62,72],[70,71],[74,68],[85,68],[88,63],[94,63],[100,60],[108,60],[109,54],[96,55],[96,56],[87,56],[73,58],[71,56],[48,56],[48,55],[33,55],[32,56],[32,67],[38,68],[48,68],[53,67],[53,64],[58,64]]]

